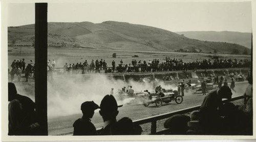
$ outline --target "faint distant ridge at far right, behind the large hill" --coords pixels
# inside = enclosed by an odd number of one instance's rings
[[[176,32],[184,34],[185,37],[203,40],[203,41],[221,41],[236,43],[251,49],[251,33],[241,32],[214,32],[214,31],[193,31],[193,32]]]

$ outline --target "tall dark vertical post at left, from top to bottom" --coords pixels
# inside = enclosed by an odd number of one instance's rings
[[[35,4],[35,103],[39,135],[48,135],[47,123],[47,3]]]

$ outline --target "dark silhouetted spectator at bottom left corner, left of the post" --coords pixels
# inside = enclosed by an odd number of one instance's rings
[[[39,124],[35,103],[17,93],[14,83],[8,83],[9,132],[8,135],[38,135]]]

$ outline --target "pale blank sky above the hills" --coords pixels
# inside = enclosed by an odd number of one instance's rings
[[[8,26],[34,23],[34,4],[9,4]],[[251,32],[251,3],[49,3],[49,22],[123,21],[178,31]]]

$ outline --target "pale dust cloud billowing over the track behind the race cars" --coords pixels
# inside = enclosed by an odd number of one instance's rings
[[[163,82],[158,82],[165,89],[177,89],[173,85],[165,85]],[[127,105],[133,98],[124,100],[118,99],[118,91],[122,87],[129,88],[132,86],[135,92],[144,90],[154,91],[153,82],[137,82],[129,80],[115,80],[112,77],[105,75],[93,76],[56,76],[53,81],[48,81],[48,116],[65,116],[79,114],[80,105],[84,101],[94,101],[100,105],[102,98],[106,94],[110,94],[111,88],[114,88],[114,96],[118,105]]]

